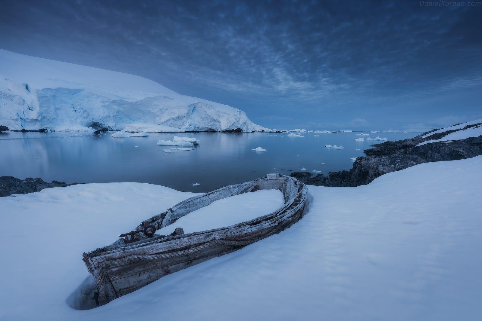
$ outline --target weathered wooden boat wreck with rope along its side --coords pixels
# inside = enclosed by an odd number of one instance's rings
[[[155,231],[215,200],[254,192],[280,189],[284,205],[253,220],[214,230],[184,234],[182,228],[170,235]],[[297,222],[307,205],[308,188],[293,177],[268,174],[254,181],[229,185],[188,198],[144,222],[107,247],[83,254],[83,261],[97,287],[97,304],[131,293],[164,275],[218,257],[280,233]]]

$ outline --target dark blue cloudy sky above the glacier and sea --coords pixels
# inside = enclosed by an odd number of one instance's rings
[[[140,75],[267,127],[482,118],[482,4],[420,3],[2,0],[0,48]]]

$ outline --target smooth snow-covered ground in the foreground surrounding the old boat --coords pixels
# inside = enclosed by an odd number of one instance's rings
[[[478,320],[482,156],[359,187],[308,186],[307,215],[92,310],[81,259],[192,193],[86,184],[0,198],[0,320]]]

